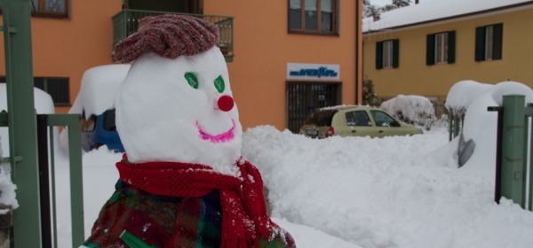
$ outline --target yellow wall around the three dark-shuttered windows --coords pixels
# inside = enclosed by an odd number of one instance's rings
[[[446,98],[457,81],[520,81],[533,86],[533,9],[501,13],[429,27],[363,35],[363,76],[374,82],[379,97],[419,95]],[[503,23],[501,60],[474,60],[475,28]],[[426,35],[456,31],[456,63],[426,66]],[[400,66],[376,69],[376,43],[400,40]]]

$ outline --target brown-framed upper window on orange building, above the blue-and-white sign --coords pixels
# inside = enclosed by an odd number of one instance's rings
[[[289,32],[338,34],[338,0],[289,0]]]

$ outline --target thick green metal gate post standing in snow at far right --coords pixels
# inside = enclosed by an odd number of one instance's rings
[[[501,194],[525,207],[525,97],[503,97],[504,130],[502,138]]]

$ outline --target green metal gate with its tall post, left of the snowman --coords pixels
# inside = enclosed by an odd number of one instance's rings
[[[7,88],[7,112],[0,113],[0,126],[9,129],[8,158],[2,160],[12,167],[12,181],[17,185],[19,207],[12,211],[12,231],[15,248],[57,246],[57,229],[53,192],[53,149],[52,159],[39,159],[47,156],[37,147],[37,115],[34,107],[34,85],[31,47],[30,13],[31,0],[3,0],[2,14],[4,26],[5,74]],[[79,246],[84,240],[83,177],[81,159],[81,131],[79,115],[52,114],[44,119],[51,136],[54,126],[68,126],[70,194],[72,211],[72,244]],[[43,119],[40,117],[39,120]],[[44,128],[45,130],[45,128]],[[46,132],[46,131],[45,131]],[[42,133],[42,132],[41,132]],[[46,135],[44,135],[46,136]],[[51,139],[53,148],[53,139]],[[41,139],[42,142],[42,139]],[[46,149],[45,151],[48,151]],[[51,160],[52,166],[44,166]],[[41,168],[40,168],[41,167]],[[40,173],[43,167],[50,168],[52,182],[44,182]],[[48,189],[46,189],[48,188]],[[43,192],[52,192],[50,204],[44,203]],[[52,235],[53,234],[53,235]],[[54,241],[52,241],[52,239]]]

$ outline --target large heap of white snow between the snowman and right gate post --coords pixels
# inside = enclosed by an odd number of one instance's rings
[[[530,247],[533,213],[497,205],[492,181],[428,155],[447,140],[444,129],[316,140],[264,126],[247,130],[243,156],[263,174],[274,217],[352,244]]]

